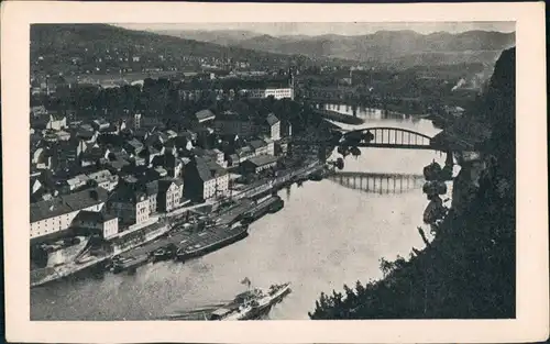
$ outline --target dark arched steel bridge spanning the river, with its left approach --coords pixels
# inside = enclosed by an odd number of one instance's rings
[[[373,126],[346,131],[333,129],[327,137],[293,137],[292,144],[327,145],[349,147],[405,148],[444,151],[432,143],[432,137],[411,130],[391,126]]]

